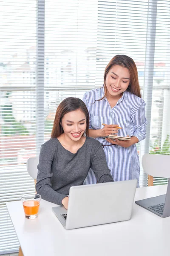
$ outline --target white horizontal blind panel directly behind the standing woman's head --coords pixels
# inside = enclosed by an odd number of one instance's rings
[[[125,54],[133,58],[136,63],[139,73],[139,84],[143,93],[148,2],[149,0],[99,1],[96,64],[97,86],[103,84],[105,67],[111,58],[117,54]],[[137,150],[141,152],[140,143],[137,144]],[[144,185],[146,184],[146,175],[143,172],[141,172],[140,181]]]

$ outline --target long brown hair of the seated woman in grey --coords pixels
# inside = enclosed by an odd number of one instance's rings
[[[59,104],[59,106],[57,108],[55,119],[54,119],[54,124],[53,124],[53,129],[51,132],[51,138],[57,138],[57,137],[59,137],[59,135],[64,133],[62,125],[60,124],[62,117],[65,114],[67,114],[71,111],[75,111],[77,109],[80,109],[85,114],[86,124],[87,124],[85,134],[86,134],[86,136],[88,136],[89,113],[88,113],[88,109],[87,109],[85,103],[79,98],[68,97],[68,98],[64,99]]]

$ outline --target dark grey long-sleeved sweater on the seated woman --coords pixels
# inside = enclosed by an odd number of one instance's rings
[[[90,168],[98,183],[113,181],[101,143],[90,137],[86,137],[75,154],[66,150],[57,138],[48,140],[41,146],[37,168],[37,194],[60,205],[71,186],[83,184]]]

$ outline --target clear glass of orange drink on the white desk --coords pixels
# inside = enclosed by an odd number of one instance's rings
[[[34,219],[38,217],[41,196],[38,194],[23,195],[21,197],[26,218]]]

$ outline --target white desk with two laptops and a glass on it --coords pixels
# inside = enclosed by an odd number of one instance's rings
[[[136,189],[135,200],[165,194],[167,185]],[[21,201],[7,203],[24,256],[170,256],[170,217],[134,204],[130,221],[65,230],[42,200],[39,217],[24,217]],[[101,206],[102,207],[102,206]]]

